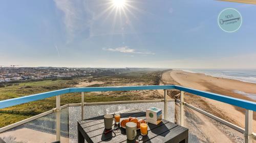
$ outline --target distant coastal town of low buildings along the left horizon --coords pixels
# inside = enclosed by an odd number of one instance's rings
[[[37,80],[45,78],[115,75],[130,70],[130,68],[1,67],[0,82]]]

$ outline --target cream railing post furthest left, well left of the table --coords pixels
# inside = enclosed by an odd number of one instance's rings
[[[60,95],[56,96],[56,141],[60,141]]]

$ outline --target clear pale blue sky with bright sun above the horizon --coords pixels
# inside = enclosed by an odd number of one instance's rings
[[[213,0],[3,0],[0,65],[256,68],[256,6]],[[218,25],[226,8],[237,32]]]

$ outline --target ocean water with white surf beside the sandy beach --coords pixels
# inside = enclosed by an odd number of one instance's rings
[[[236,79],[243,82],[256,83],[256,69],[182,69],[185,72],[190,73],[204,73],[214,77],[223,77]],[[234,90],[234,93],[248,96],[251,99],[256,100],[256,94],[245,93],[242,91]]]

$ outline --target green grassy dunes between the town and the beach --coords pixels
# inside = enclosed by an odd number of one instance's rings
[[[0,100],[22,97],[37,93],[76,87],[77,84],[86,82],[87,87],[106,87],[121,85],[157,85],[160,82],[163,71],[151,72],[128,72],[111,76],[77,77],[67,79],[51,79],[42,81],[31,81],[21,83],[11,83],[12,85],[0,88]],[[94,81],[100,83],[94,83]],[[148,92],[150,93],[150,92]],[[85,94],[85,102],[108,102],[155,99],[156,93],[152,96],[144,96],[145,93],[138,91],[123,92],[92,92]],[[56,97],[46,98],[39,101],[16,105],[0,110],[0,127],[24,120],[38,113],[51,110],[56,105]],[[69,103],[80,103],[80,93],[61,95],[61,105]]]

